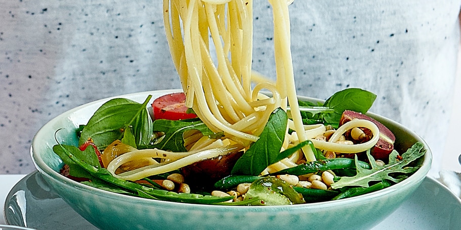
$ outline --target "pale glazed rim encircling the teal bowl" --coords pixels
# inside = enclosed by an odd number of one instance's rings
[[[90,192],[92,194],[97,194],[99,196],[104,196],[104,197],[111,198],[111,199],[117,199],[117,200],[127,200],[127,199],[129,199],[130,202],[146,203],[146,204],[149,204],[149,205],[162,206],[162,207],[168,207],[168,208],[179,208],[180,209],[180,208],[185,208],[185,207],[190,206],[190,207],[193,207],[193,208],[203,207],[203,208],[206,208],[208,210],[210,210],[210,209],[214,209],[214,210],[236,209],[236,210],[239,210],[239,211],[245,211],[245,210],[246,211],[267,211],[267,210],[287,210],[287,209],[289,209],[290,211],[295,211],[295,210],[300,210],[300,209],[305,209],[305,208],[309,208],[309,209],[315,208],[315,209],[318,210],[318,209],[329,208],[329,207],[333,207],[333,206],[340,206],[340,205],[347,205],[347,204],[351,204],[351,203],[356,203],[357,201],[362,201],[364,199],[368,200],[368,199],[373,199],[373,198],[380,197],[380,196],[383,196],[383,195],[386,195],[386,194],[389,194],[389,193],[395,193],[396,191],[400,190],[401,187],[405,187],[408,184],[421,183],[423,181],[423,179],[427,176],[427,173],[428,173],[428,171],[429,171],[429,169],[431,167],[431,163],[432,163],[431,150],[430,150],[428,144],[418,134],[414,133],[413,131],[409,130],[405,126],[403,126],[403,125],[401,125],[401,124],[399,124],[399,123],[397,123],[397,122],[395,122],[393,120],[390,120],[388,118],[385,118],[383,116],[380,116],[380,115],[372,113],[372,112],[368,112],[367,114],[371,114],[374,118],[377,118],[378,120],[384,119],[384,120],[386,120],[386,122],[393,123],[393,125],[397,125],[397,126],[401,127],[406,132],[408,132],[411,136],[416,137],[416,139],[418,139],[418,141],[421,141],[424,144],[425,148],[427,149],[427,152],[426,152],[426,154],[424,156],[422,166],[416,172],[414,172],[410,177],[406,178],[405,180],[403,180],[403,181],[401,181],[401,182],[399,182],[399,183],[397,183],[395,185],[387,187],[385,189],[382,189],[382,190],[379,190],[379,191],[376,191],[376,192],[372,192],[372,193],[368,193],[368,194],[363,194],[363,195],[356,196],[356,197],[351,197],[351,198],[346,198],[346,199],[341,199],[341,200],[334,200],[334,201],[324,201],[324,202],[315,202],[315,203],[306,203],[306,204],[297,204],[297,205],[279,205],[279,206],[228,206],[228,205],[212,205],[212,204],[179,203],[179,202],[172,202],[172,201],[151,200],[151,199],[146,199],[146,198],[141,198],[141,197],[127,196],[127,195],[123,195],[123,194],[117,194],[117,193],[97,189],[97,188],[94,188],[94,187],[91,187],[91,186],[84,185],[82,183],[73,181],[73,180],[71,180],[71,179],[69,179],[67,177],[64,177],[61,174],[59,174],[59,172],[52,169],[47,163],[45,163],[44,160],[40,157],[40,153],[37,153],[34,150],[34,146],[40,144],[40,143],[38,143],[38,140],[37,140],[38,137],[41,135],[41,133],[43,133],[43,132],[45,132],[45,130],[47,130],[48,126],[51,126],[51,124],[61,120],[62,118],[69,117],[71,114],[75,113],[76,111],[78,111],[78,110],[80,110],[80,109],[82,109],[84,107],[99,104],[99,103],[102,104],[105,101],[108,101],[108,100],[113,99],[113,98],[120,98],[120,97],[132,98],[132,97],[135,97],[135,96],[150,95],[150,94],[158,94],[160,96],[160,95],[163,95],[163,94],[174,93],[174,92],[178,92],[178,91],[182,91],[182,90],[181,89],[152,90],[152,91],[144,91],[144,92],[136,92],[136,93],[130,93],[130,94],[117,95],[117,96],[107,97],[107,98],[95,100],[95,101],[92,101],[92,102],[89,102],[89,103],[85,103],[85,104],[79,105],[77,107],[74,107],[74,108],[72,108],[70,110],[67,110],[67,111],[59,114],[58,116],[56,116],[55,118],[53,118],[52,120],[47,122],[45,125],[43,125],[38,130],[38,132],[36,133],[34,138],[32,139],[32,144],[30,146],[30,155],[32,157],[32,161],[33,161],[35,167],[37,168],[37,170],[43,176],[45,176],[45,178],[55,180],[56,182],[58,182],[59,184],[61,184],[63,186],[64,185],[71,186],[71,187],[74,187],[74,188],[79,189],[79,190],[87,191],[87,192]],[[306,96],[299,96],[299,98],[307,99],[307,100],[313,100],[313,101],[321,101],[320,99],[306,97]],[[154,100],[154,99],[155,98],[153,97],[151,100]],[[88,119],[89,119],[89,117],[88,117]]]

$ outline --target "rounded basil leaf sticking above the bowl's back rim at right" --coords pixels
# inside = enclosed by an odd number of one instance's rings
[[[376,95],[359,88],[348,88],[333,94],[328,98],[324,106],[333,108],[335,112],[324,114],[326,123],[339,123],[345,110],[353,110],[365,113],[373,105]]]

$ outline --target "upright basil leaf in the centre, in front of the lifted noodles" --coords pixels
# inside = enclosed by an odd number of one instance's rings
[[[269,164],[275,163],[285,139],[288,116],[275,109],[269,116],[259,139],[237,160],[232,175],[259,175]]]

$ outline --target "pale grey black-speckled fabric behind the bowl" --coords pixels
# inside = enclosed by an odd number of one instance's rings
[[[298,94],[347,87],[442,154],[460,1],[311,1],[290,6]],[[34,170],[29,145],[61,112],[108,96],[179,88],[161,1],[0,2],[0,173]],[[253,68],[274,75],[271,9],[255,0]],[[438,123],[434,123],[437,120]]]

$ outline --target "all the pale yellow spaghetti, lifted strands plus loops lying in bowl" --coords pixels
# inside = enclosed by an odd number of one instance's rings
[[[288,6],[293,0],[268,0],[273,10],[274,57],[276,80],[269,81],[252,71],[253,58],[253,1],[252,0],[164,0],[163,19],[166,38],[174,66],[186,94],[186,105],[194,109],[198,117],[214,132],[223,132],[232,148],[220,146],[213,152],[207,145],[207,137],[191,134],[188,148],[194,154],[183,153],[184,158],[167,160],[118,175],[126,180],[166,172],[175,166],[200,160],[200,151],[216,155],[222,151],[236,150],[235,146],[249,146],[258,140],[271,112],[278,107],[287,109],[290,104],[289,128],[295,132],[288,135],[284,143],[287,148],[293,143],[312,140],[314,146],[327,151],[342,153],[361,152],[373,147],[378,141],[379,130],[368,121],[352,121],[341,127],[329,142],[317,141],[315,136],[326,131],[324,125],[304,126],[297,101],[293,61],[290,43],[290,18]],[[211,44],[214,49],[211,49]],[[212,52],[212,50],[215,50]],[[254,87],[252,87],[254,83]],[[272,96],[263,95],[263,90]],[[373,139],[363,144],[343,145],[335,143],[338,136],[351,127],[368,128]],[[288,128],[287,128],[288,131]],[[197,141],[198,140],[198,141]],[[232,140],[232,141],[231,141]],[[197,142],[197,145],[193,144]],[[237,144],[237,145],[236,145]],[[244,148],[244,147],[243,147]],[[108,169],[113,172],[122,163],[139,157],[158,155],[134,153],[120,155]],[[213,152],[213,153],[211,153]],[[302,152],[307,161],[315,160],[309,147]],[[204,154],[202,154],[204,155]],[[206,154],[205,154],[206,155]],[[292,167],[301,157],[299,152],[290,158],[271,165],[267,170]],[[167,166],[168,165],[168,166]],[[267,171],[266,170],[266,171]],[[114,174],[115,175],[115,174]]]

